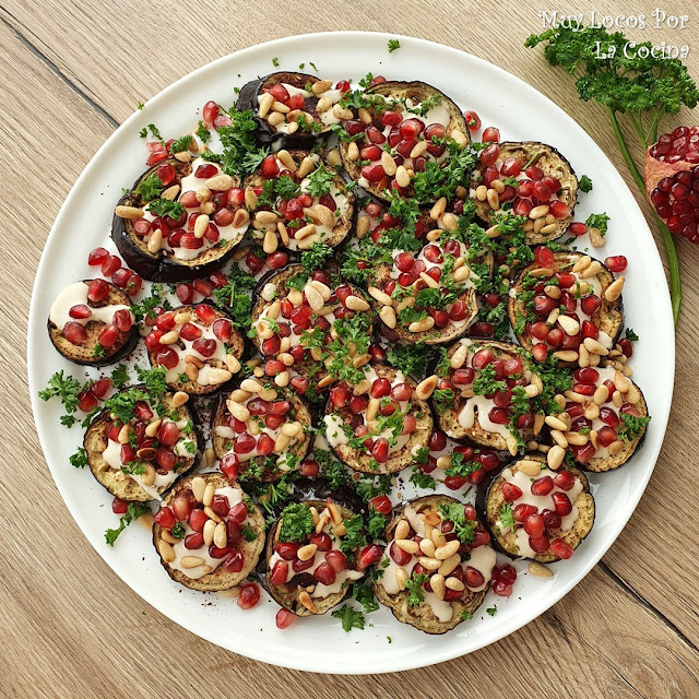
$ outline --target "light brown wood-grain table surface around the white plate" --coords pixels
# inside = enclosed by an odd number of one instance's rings
[[[2,4],[0,141],[8,187],[0,198],[5,311],[0,347],[7,363],[0,375],[4,425],[0,694],[187,697],[213,694],[215,687],[221,696],[238,697],[276,697],[285,690],[402,699],[438,694],[699,697],[692,448],[699,431],[699,248],[695,246],[678,242],[685,303],[670,428],[649,489],[628,526],[583,582],[525,628],[466,657],[400,676],[331,677],[280,670],[228,653],[161,616],[111,572],[74,524],[46,466],[26,391],[26,319],[34,274],[54,218],[76,177],[138,102],[220,56],[259,42],[306,32],[386,31],[481,56],[571,114],[612,157],[648,212],[601,110],[580,102],[572,81],[522,45],[530,33],[541,31],[542,10],[617,14],[619,3],[584,0],[573,8],[540,0],[299,0],[283,5],[5,0]],[[687,63],[699,79],[699,8],[695,0],[660,4],[667,14],[689,15],[687,28],[630,35],[690,46]],[[633,1],[623,9],[650,16],[655,7]],[[685,110],[665,126],[680,122],[696,123],[697,110]],[[17,509],[16,486],[22,482],[31,484],[25,500],[29,507]],[[48,535],[27,535],[37,522]],[[204,668],[203,690],[192,678],[192,667]]]

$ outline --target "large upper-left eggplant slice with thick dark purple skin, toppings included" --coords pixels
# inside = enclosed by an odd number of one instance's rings
[[[168,159],[146,170],[121,198],[111,238],[144,279],[191,280],[224,264],[249,221],[239,181],[220,165],[202,157]]]

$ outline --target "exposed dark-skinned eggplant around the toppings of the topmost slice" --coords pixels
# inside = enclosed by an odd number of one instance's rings
[[[299,129],[296,133],[292,134],[277,133],[274,127],[270,126],[264,119],[260,119],[258,116],[258,96],[262,93],[263,87],[269,87],[276,83],[286,83],[287,85],[294,85],[294,87],[303,90],[305,85],[309,83],[312,85],[317,83],[318,80],[316,75],[292,72],[270,73],[269,75],[264,75],[264,78],[251,80],[240,88],[236,102],[236,109],[238,109],[238,111],[246,111],[247,109],[252,111],[254,121],[258,125],[257,138],[260,143],[280,143],[282,147],[310,149],[313,146],[316,139],[307,131]],[[304,111],[315,115],[317,104],[317,97],[308,97]],[[330,127],[323,125],[322,131],[318,133],[327,133],[329,130]]]

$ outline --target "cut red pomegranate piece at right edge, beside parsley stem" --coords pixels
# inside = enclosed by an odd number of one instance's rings
[[[699,126],[677,127],[645,151],[648,199],[675,235],[699,242]]]

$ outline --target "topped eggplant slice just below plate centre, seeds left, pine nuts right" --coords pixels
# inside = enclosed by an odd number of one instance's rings
[[[354,471],[402,471],[427,446],[433,430],[429,405],[400,370],[375,364],[362,371],[360,381],[339,381],[330,389],[323,418],[328,443]]]

